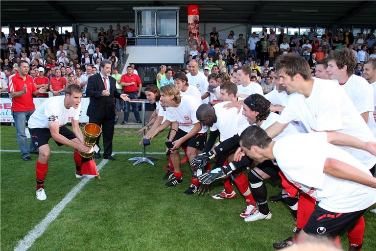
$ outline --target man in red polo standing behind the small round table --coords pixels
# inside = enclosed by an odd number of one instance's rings
[[[121,77],[120,85],[123,87],[123,93],[127,94],[129,99],[134,100],[140,98],[142,88],[141,78],[139,75],[133,74],[132,66],[127,66],[127,74]],[[127,124],[129,117],[129,102],[125,102],[124,106],[124,119],[121,125]],[[132,103],[132,110],[135,114],[136,122],[141,124],[138,103]]]

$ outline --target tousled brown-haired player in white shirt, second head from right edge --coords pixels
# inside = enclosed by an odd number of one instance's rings
[[[338,80],[368,127],[376,135],[376,123],[373,119],[374,92],[363,77],[354,75],[355,67],[356,58],[346,48],[334,50],[328,57],[327,72],[330,79]]]

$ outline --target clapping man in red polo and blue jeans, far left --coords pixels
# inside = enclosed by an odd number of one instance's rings
[[[45,87],[40,89],[35,87],[33,78],[27,75],[29,68],[29,64],[26,61],[21,61],[19,72],[11,75],[8,80],[8,91],[12,98],[12,107],[10,109],[12,110],[14,125],[16,126],[17,143],[24,161],[31,160],[29,152],[38,152],[32,139],[30,139],[29,150],[25,134],[25,124],[35,111],[33,96],[37,97],[38,94],[46,92]]]

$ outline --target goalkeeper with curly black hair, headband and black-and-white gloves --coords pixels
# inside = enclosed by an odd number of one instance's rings
[[[220,104],[217,104],[217,105],[220,105]],[[275,123],[279,118],[278,114],[270,112],[269,106],[270,106],[270,102],[266,100],[263,96],[259,94],[252,94],[251,96],[249,96],[247,99],[244,100],[244,103],[243,103],[244,109],[242,110],[242,114],[247,118],[247,121],[249,124],[256,124],[260,126],[261,128],[265,129],[269,127],[270,125],[272,125],[273,123]],[[231,108],[231,109],[235,109],[235,108]],[[235,110],[235,113],[236,113],[236,110]],[[204,124],[205,124],[205,121],[210,120],[210,119],[207,119],[207,117],[210,117],[210,116],[204,115],[202,117],[204,118],[202,119],[203,120],[202,123]],[[249,124],[247,125],[247,127],[249,126]],[[238,147],[240,134],[245,129],[244,126],[239,127],[239,128],[240,130],[238,131],[238,134],[236,135],[237,136],[236,147]],[[290,124],[286,128],[284,128],[283,132],[280,135],[278,135],[275,138],[275,140],[279,140],[287,135],[296,134],[296,133],[298,133],[297,129]],[[233,137],[233,140],[235,141],[235,137]],[[223,144],[220,144],[212,151],[213,154],[214,152],[217,153],[217,152],[224,151],[224,150],[221,150],[221,148],[226,148],[226,147],[222,147],[221,145],[230,145],[230,144],[231,144],[230,142],[224,142]],[[211,155],[211,153],[209,152],[208,155]],[[278,175],[279,169],[271,161],[267,161],[264,163],[257,163],[247,157],[243,157],[237,161],[233,161],[229,163],[226,166],[223,166],[222,168],[220,168],[220,171],[214,169],[210,173],[206,173],[200,176],[199,178],[200,178],[200,181],[205,181],[205,184],[210,184],[215,179],[219,177],[227,176],[229,174],[233,174],[236,177],[239,171],[241,172],[244,167],[247,167],[249,165],[251,167],[255,167],[257,165],[256,168],[254,168],[253,170],[251,170],[250,173],[248,173],[248,180],[252,187],[252,194],[255,200],[258,202],[259,209],[257,209],[256,203],[251,197],[253,203],[248,203],[244,212],[240,214],[240,217],[244,218],[246,222],[257,221],[257,220],[262,220],[262,219],[271,219],[272,214],[267,205],[266,186],[263,183],[263,180],[271,179],[273,182],[276,182],[277,180],[280,179]],[[297,198],[291,198],[291,197],[285,196],[283,199],[293,210],[293,213],[296,215],[297,202],[298,202]]]

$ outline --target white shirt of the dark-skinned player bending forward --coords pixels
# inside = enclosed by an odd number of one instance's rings
[[[242,113],[243,108],[240,112],[237,112],[237,108],[233,107],[230,109],[224,106],[231,102],[221,102],[213,106],[215,111],[215,116],[217,117],[217,122],[210,127],[211,131],[218,130],[220,133],[219,141],[223,142],[226,139],[232,138],[235,134],[240,134],[245,128],[249,126],[247,118],[244,117]]]

